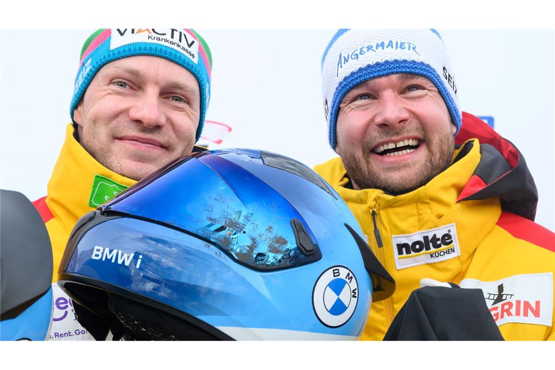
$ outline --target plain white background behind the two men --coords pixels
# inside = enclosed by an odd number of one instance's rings
[[[1,31],[0,187],[35,200],[69,122],[80,48],[92,29]],[[335,31],[198,29],[213,54],[206,119],[233,128],[221,145],[275,151],[314,166],[329,148],[320,59]],[[539,192],[536,221],[555,230],[553,30],[438,29],[461,107],[493,116],[524,154]]]

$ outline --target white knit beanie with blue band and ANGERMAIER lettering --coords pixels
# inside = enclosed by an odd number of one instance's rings
[[[447,105],[457,132],[461,109],[440,34],[434,29],[340,29],[322,56],[322,93],[331,148],[337,144],[339,105],[356,85],[372,78],[412,73],[429,79]]]

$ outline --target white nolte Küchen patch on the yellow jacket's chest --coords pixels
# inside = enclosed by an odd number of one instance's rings
[[[455,224],[414,234],[393,235],[392,241],[397,270],[450,260],[461,255]]]

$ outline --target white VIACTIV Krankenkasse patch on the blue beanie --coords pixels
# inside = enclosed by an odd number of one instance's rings
[[[195,64],[199,58],[199,44],[190,33],[184,29],[162,28],[116,28],[112,29],[110,50],[136,42],[156,43],[175,49]]]

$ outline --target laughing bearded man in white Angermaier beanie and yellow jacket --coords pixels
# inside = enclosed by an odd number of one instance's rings
[[[341,29],[322,57],[322,88],[339,158],[315,170],[397,283],[372,304],[362,339],[384,338],[412,291],[446,282],[480,288],[504,339],[555,339],[555,235],[533,222],[522,154],[461,112],[440,34]]]

